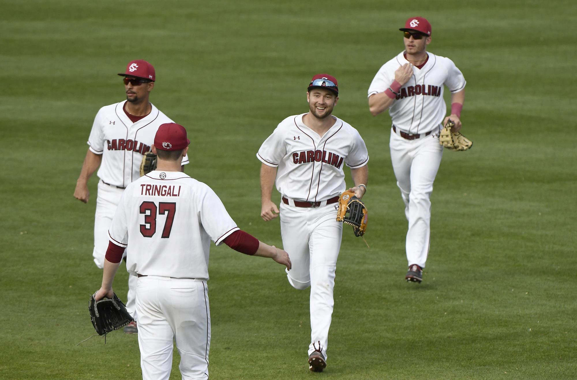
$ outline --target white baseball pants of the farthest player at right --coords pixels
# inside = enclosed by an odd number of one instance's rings
[[[439,133],[407,140],[391,129],[391,161],[409,221],[406,251],[409,265],[425,268],[430,244],[430,195],[443,158]]]

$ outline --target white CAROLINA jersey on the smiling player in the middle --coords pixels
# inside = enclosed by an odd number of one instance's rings
[[[366,165],[369,153],[361,135],[336,116],[335,124],[320,137],[302,122],[302,115],[289,116],[258,149],[264,164],[278,167],[276,189],[296,200],[324,201],[345,189],[343,166]]]

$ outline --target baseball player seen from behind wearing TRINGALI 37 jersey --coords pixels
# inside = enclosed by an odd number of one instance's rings
[[[157,170],[129,183],[121,196],[108,231],[102,287],[95,295],[96,300],[111,298],[114,274],[128,246],[126,269],[138,281],[138,346],[145,380],[170,377],[173,338],[182,379],[208,379],[211,240],[291,268],[284,250],[241,231],[210,187],[181,172],[189,144],[181,125],[158,128],[152,147]]]

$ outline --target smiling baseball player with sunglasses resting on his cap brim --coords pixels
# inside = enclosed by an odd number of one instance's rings
[[[310,286],[309,370],[327,365],[328,330],[334,306],[336,259],[342,223],[336,221],[339,195],[346,189],[344,165],[351,168],[358,198],[366,191],[369,154],[358,131],[332,115],[339,100],[334,77],[318,74],[308,86],[309,112],[284,119],[258,150],[262,162],[261,217],[279,216],[284,249],[293,269],[288,283]],[[282,194],[280,210],[272,186]]]

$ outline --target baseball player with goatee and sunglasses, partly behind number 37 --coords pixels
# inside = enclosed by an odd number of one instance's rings
[[[88,179],[98,170],[98,196],[94,217],[94,250],[92,256],[98,268],[104,266],[108,227],[114,216],[122,192],[140,177],[140,163],[144,153],[150,151],[156,130],[162,123],[172,122],[149,102],[156,74],[147,61],[138,59],[126,65],[119,73],[124,82],[126,100],[100,108],[88,138],[88,151],[76,182],[74,197],[87,203]],[[188,164],[188,157],[182,164]],[[99,168],[100,167],[100,168]],[[134,314],[136,277],[129,277],[126,309]],[[136,333],[136,322],[125,327],[126,333]]]

